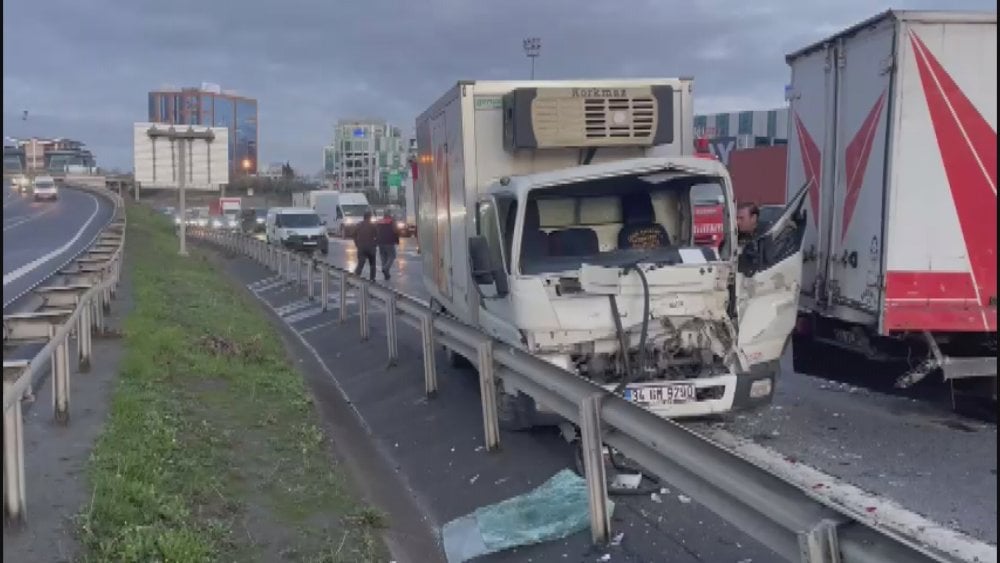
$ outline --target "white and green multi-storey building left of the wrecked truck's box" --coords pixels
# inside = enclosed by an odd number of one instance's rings
[[[378,191],[397,197],[409,175],[409,140],[398,127],[381,119],[342,119],[334,127],[333,143],[323,149],[327,183],[345,191]]]

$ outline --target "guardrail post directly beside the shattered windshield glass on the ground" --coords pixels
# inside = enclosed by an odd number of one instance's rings
[[[601,393],[594,393],[580,401],[580,449],[590,500],[590,537],[595,544],[607,543],[611,535],[604,443],[601,439],[602,396]]]

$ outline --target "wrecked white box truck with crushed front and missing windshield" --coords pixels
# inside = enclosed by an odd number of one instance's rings
[[[444,94],[416,124],[432,308],[660,416],[769,402],[795,324],[805,190],[737,256],[726,169],[693,154],[691,89],[468,81]],[[711,193],[717,248],[694,228]],[[549,422],[498,385],[505,427]]]

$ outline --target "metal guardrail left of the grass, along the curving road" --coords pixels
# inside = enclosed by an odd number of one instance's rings
[[[106,331],[105,314],[110,312],[121,277],[125,246],[125,207],[117,194],[103,188],[82,187],[114,204],[111,222],[74,264],[53,276],[62,285],[33,290],[41,306],[31,313],[3,316],[3,500],[4,515],[10,522],[23,523],[27,514],[24,472],[24,426],[21,400],[48,364],[52,374],[52,408],[55,420],[69,423],[70,343],[75,338],[77,367],[90,369],[93,335]],[[27,344],[43,344],[30,360],[7,360],[8,349]]]

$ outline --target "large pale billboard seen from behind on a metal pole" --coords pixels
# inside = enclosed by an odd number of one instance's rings
[[[219,190],[229,183],[229,130],[203,125],[136,123],[135,181],[144,188]]]

